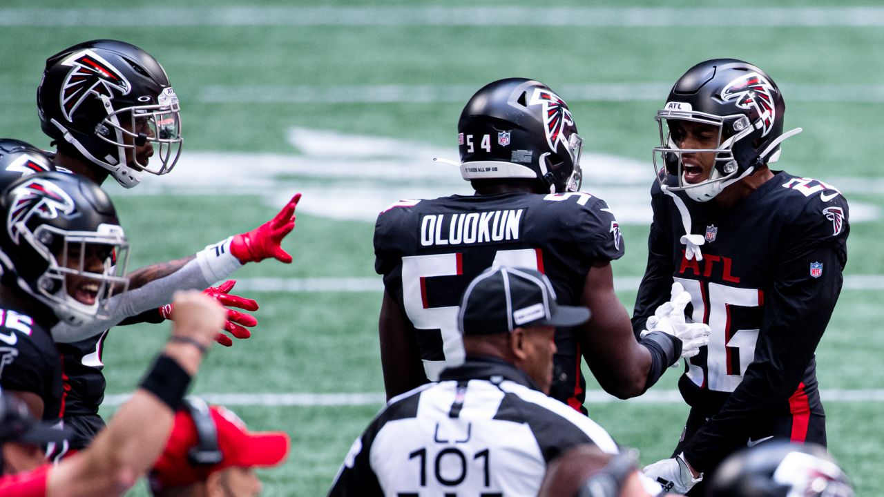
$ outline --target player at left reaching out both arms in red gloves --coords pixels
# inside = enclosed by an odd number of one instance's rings
[[[101,185],[113,177],[123,187],[135,187],[145,173],[171,171],[181,147],[179,100],[161,65],[140,48],[114,40],[83,42],[46,61],[37,109],[42,130],[57,150],[49,154],[59,170],[84,176]],[[101,351],[106,330],[128,322],[159,322],[171,316],[171,294],[179,289],[206,289],[226,306],[256,310],[257,304],[229,294],[232,281],[210,287],[248,262],[292,257],[280,242],[294,226],[295,195],[271,221],[247,233],[178,260],[153,264],[130,274],[129,290],[111,299],[108,315],[84,324],[63,321],[52,329],[65,356],[65,423],[78,436],[73,447],[88,443],[101,427],[98,406],[103,401]],[[248,338],[243,326],[255,318],[228,310],[225,330]],[[231,345],[219,333],[217,341]]]

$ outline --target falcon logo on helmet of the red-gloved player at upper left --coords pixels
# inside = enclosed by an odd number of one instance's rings
[[[112,99],[114,91],[126,95],[132,89],[123,74],[92,50],[76,52],[61,64],[71,66],[61,85],[61,110],[69,122],[89,96]]]

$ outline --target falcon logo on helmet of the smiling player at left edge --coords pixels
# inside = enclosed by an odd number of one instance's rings
[[[70,215],[76,210],[73,199],[54,183],[29,180],[11,192],[12,201],[6,231],[18,244],[22,227],[32,216],[44,219],[58,218],[59,213]]]

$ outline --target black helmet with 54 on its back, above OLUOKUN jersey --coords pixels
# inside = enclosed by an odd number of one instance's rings
[[[524,178],[550,193],[580,189],[583,139],[568,104],[539,81],[485,85],[463,108],[457,131],[464,180]]]

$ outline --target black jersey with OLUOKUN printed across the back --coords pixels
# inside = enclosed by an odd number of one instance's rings
[[[579,305],[591,265],[623,255],[605,201],[585,193],[453,195],[394,203],[377,218],[375,270],[412,327],[427,378],[463,361],[461,296],[492,265],[527,267],[551,280],[558,302]],[[575,328],[556,332],[551,395],[583,405]]]

